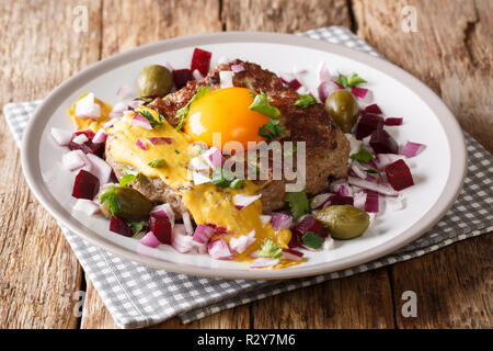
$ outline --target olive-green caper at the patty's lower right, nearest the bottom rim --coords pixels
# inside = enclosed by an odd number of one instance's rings
[[[369,226],[369,215],[352,205],[334,205],[320,210],[317,219],[329,228],[334,239],[359,237]]]

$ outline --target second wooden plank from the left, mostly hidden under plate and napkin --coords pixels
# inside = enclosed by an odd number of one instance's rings
[[[104,1],[102,8],[102,58],[164,38],[221,31],[219,16],[219,0],[203,1],[200,7],[197,7],[194,0]],[[104,307],[98,292],[89,281],[87,292],[81,328],[116,328],[117,326]],[[226,315],[228,314],[231,313],[226,313]],[[227,328],[238,325],[236,321],[238,316],[234,318],[221,318],[221,316],[205,319],[196,326]],[[181,326],[180,320],[174,318],[161,327],[175,328],[179,326]]]

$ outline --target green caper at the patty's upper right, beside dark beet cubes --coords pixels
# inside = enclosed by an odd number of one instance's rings
[[[349,133],[356,123],[359,106],[349,91],[341,89],[325,100],[325,111],[344,133]]]

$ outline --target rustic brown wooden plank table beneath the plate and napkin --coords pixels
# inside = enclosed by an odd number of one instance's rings
[[[415,7],[417,32],[401,29],[406,4]],[[87,32],[73,30],[77,5],[88,9]],[[422,79],[492,150],[491,0],[0,0],[0,105],[42,99],[102,58],[163,38],[328,25],[351,29]],[[115,328],[55,220],[28,190],[19,150],[0,121],[0,328]],[[186,327],[492,328],[491,248],[489,234]],[[77,291],[87,291],[82,318],[72,312]],[[417,294],[416,318],[401,314],[404,291]],[[158,327],[182,325],[173,318]]]

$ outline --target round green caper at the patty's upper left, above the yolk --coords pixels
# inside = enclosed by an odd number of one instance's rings
[[[147,66],[137,77],[137,89],[141,97],[164,97],[172,87],[173,76],[163,66]]]

